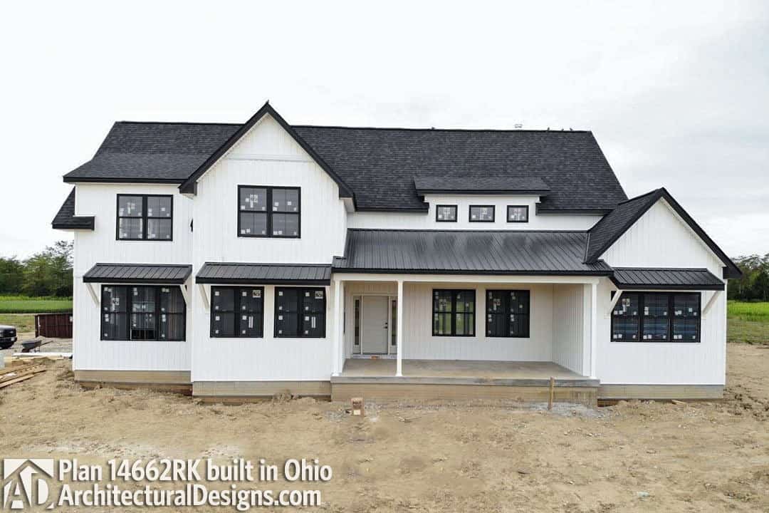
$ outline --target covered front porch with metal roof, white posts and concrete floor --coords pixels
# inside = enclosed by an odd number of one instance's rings
[[[598,285],[580,232],[351,230],[333,264],[332,396],[594,402]],[[369,359],[365,359],[369,358]],[[564,391],[569,390],[569,393]]]

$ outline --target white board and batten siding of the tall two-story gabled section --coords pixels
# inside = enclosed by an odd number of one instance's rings
[[[238,185],[300,188],[301,238],[238,237]],[[195,271],[206,261],[328,265],[345,251],[347,214],[338,185],[270,116],[200,178],[194,202]],[[328,381],[333,288],[325,287],[325,338],[275,338],[275,286],[264,288],[264,338],[211,338],[210,311],[195,286],[192,381]],[[211,287],[205,290],[210,299]]]

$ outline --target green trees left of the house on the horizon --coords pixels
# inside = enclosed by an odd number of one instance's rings
[[[72,241],[58,241],[25,260],[0,257],[0,295],[72,296]]]

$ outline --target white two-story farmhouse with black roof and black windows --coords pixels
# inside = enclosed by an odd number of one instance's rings
[[[591,132],[118,122],[75,232],[75,378],[210,400],[718,398],[740,271]]]

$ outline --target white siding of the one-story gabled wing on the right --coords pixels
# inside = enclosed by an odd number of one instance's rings
[[[613,267],[707,268],[721,278],[724,264],[661,199],[607,252]],[[726,293],[701,318],[701,341],[618,342],[611,340],[611,291],[598,286],[598,378],[601,384],[724,385],[726,372]],[[704,309],[714,292],[701,295]]]

